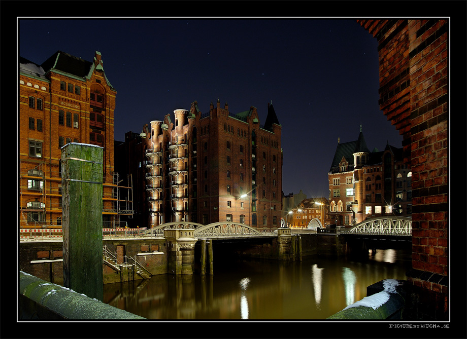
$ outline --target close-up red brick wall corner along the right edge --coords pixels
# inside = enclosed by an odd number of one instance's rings
[[[357,20],[378,40],[380,108],[412,166],[414,319],[448,308],[448,20]]]

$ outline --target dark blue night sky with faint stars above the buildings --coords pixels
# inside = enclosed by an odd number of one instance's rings
[[[85,21],[85,22],[83,22]],[[76,32],[73,34],[72,32]],[[284,194],[328,197],[338,138],[402,147],[378,105],[377,41],[355,19],[20,19],[18,53],[92,61],[117,90],[114,138],[193,101],[233,114],[272,102],[282,125]]]

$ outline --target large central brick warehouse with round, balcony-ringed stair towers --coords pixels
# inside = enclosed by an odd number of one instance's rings
[[[202,113],[195,101],[190,110],[146,124],[141,135],[126,133],[119,147],[130,159],[145,155],[126,170],[145,178],[145,192],[134,196],[145,206],[140,227],[172,221],[280,227],[281,125],[272,104],[261,126],[256,107],[232,114],[217,100]]]

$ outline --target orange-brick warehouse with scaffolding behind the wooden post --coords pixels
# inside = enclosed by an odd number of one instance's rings
[[[19,58],[19,226],[61,228],[61,147],[104,148],[103,220],[114,223],[116,90],[99,52],[93,62],[58,51],[42,64]]]

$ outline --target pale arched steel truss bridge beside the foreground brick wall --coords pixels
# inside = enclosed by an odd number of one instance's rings
[[[412,237],[412,218],[402,216],[371,218],[356,224],[351,229],[346,229],[339,233],[349,235]]]

